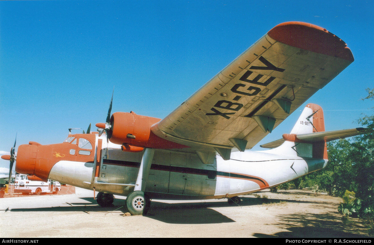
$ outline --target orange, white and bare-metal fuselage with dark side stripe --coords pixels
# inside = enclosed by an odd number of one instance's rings
[[[134,190],[143,152],[124,152],[118,144],[107,144],[105,134],[69,137],[61,144],[31,144],[34,149],[20,146],[17,172],[117,195],[127,196]],[[22,156],[26,147],[29,159]],[[171,200],[233,197],[291,181],[327,163],[280,150],[232,152],[230,160],[217,155],[211,164],[204,164],[195,153],[156,149],[145,193],[149,198]],[[22,161],[34,169],[26,170]]]

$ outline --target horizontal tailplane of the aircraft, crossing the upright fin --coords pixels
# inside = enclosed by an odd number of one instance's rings
[[[318,142],[318,141],[329,142],[332,140],[344,139],[347,137],[364,134],[367,131],[368,131],[367,128],[351,128],[351,129],[324,131],[324,132],[316,132],[316,133],[309,133],[309,134],[293,134],[293,135],[283,134],[283,139],[275,140],[267,144],[262,144],[260,146],[263,148],[275,148],[283,144],[285,139],[289,140],[291,138],[292,138],[291,141],[304,142],[304,143],[312,143],[312,142]],[[290,137],[290,136],[294,136],[294,137]]]

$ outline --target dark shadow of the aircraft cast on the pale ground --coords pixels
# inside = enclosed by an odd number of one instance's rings
[[[310,201],[298,200],[282,200],[282,199],[269,199],[257,197],[240,197],[240,206],[253,206],[262,205],[266,203],[313,203]],[[11,209],[12,212],[35,212],[35,211],[82,211],[85,213],[90,212],[112,212],[118,211],[127,213],[126,200],[116,199],[112,206],[101,207],[96,203],[92,197],[80,198],[86,202],[64,203],[64,206],[58,207],[41,207],[41,208],[21,208]],[[212,224],[212,223],[230,223],[235,222],[229,217],[215,211],[215,207],[233,207],[227,201],[196,201],[190,203],[164,203],[161,201],[153,200],[151,202],[150,210],[145,217],[150,219],[159,220],[165,223],[172,224]],[[240,208],[240,207],[237,207]],[[7,211],[7,210],[6,210]]]

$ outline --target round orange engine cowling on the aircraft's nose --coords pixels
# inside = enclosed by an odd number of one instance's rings
[[[37,147],[31,144],[22,144],[18,147],[16,158],[16,172],[20,174],[35,174]]]

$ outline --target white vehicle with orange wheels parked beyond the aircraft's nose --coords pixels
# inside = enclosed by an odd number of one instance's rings
[[[57,194],[61,190],[60,182],[48,179],[47,182],[39,180],[30,180],[28,175],[18,174],[14,182],[14,192],[22,192],[24,194],[35,193],[40,195],[41,193]]]

